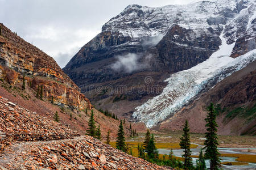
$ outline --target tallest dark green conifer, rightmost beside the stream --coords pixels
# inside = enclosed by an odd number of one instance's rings
[[[216,111],[214,109],[213,103],[210,103],[209,107],[207,108],[208,115],[205,118],[207,124],[207,132],[205,133],[204,141],[205,145],[205,159],[209,159],[210,161],[210,170],[218,169],[220,167],[220,152],[218,152],[218,137],[217,137],[217,122],[216,122]]]

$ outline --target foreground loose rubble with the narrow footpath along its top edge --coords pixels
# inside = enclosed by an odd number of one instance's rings
[[[125,154],[89,136],[15,142],[1,157],[0,166],[10,169],[172,169]]]

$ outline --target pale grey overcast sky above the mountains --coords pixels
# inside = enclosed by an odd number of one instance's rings
[[[101,27],[130,4],[159,7],[199,0],[0,0],[0,23],[64,67]]]

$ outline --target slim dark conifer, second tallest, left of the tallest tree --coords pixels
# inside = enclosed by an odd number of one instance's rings
[[[192,159],[191,159],[191,150],[190,150],[190,137],[189,137],[189,127],[188,121],[185,121],[183,128],[183,135],[180,138],[180,147],[184,149],[184,154],[182,157],[184,158],[184,169],[191,169],[192,167]]]

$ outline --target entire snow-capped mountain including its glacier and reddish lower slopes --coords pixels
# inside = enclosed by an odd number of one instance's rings
[[[102,26],[64,72],[96,108],[155,130],[256,134],[255,1],[129,5]],[[239,125],[239,126],[238,126]]]

